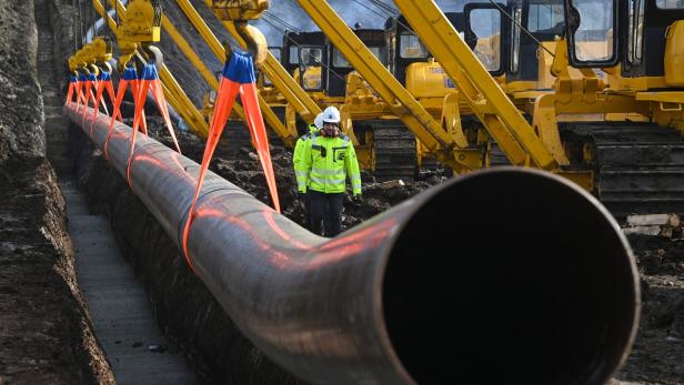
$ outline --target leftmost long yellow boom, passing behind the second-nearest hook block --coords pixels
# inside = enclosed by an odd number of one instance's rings
[[[117,7],[117,9],[121,12],[125,11],[125,8],[119,0],[110,0],[109,1],[112,7]],[[93,7],[95,11],[100,14],[100,17],[107,19],[107,23],[109,28],[117,33],[118,26],[117,22],[112,19],[112,17],[107,12],[104,6],[100,2],[100,0],[93,0]],[[209,134],[209,126],[204,121],[202,114],[197,110],[194,104],[185,92],[183,92],[180,84],[175,81],[169,69],[165,64],[162,63],[159,69],[159,77],[163,84],[164,97],[169,100],[169,103],[173,107],[173,109],[183,118],[185,122],[188,122],[189,126],[199,135],[207,138]]]

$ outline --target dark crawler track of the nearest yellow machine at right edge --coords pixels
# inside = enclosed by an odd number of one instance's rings
[[[618,217],[684,213],[684,141],[650,123],[573,123],[562,135],[594,170],[596,195]]]

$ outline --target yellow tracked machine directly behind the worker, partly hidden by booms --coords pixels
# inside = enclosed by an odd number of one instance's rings
[[[353,33],[388,64],[384,30],[356,28]],[[351,136],[363,169],[381,180],[414,176],[414,135],[322,31],[285,31],[283,65],[316,103],[340,109],[342,130]]]

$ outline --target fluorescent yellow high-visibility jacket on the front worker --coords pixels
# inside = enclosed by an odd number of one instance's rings
[[[300,192],[306,189],[322,193],[343,193],[349,176],[352,193],[361,194],[361,172],[356,152],[349,136],[323,136],[320,132],[304,142],[304,151],[295,170]]]

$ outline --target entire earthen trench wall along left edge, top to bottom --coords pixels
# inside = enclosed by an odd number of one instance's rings
[[[46,160],[33,18],[33,1],[0,2],[0,384],[111,384]]]

